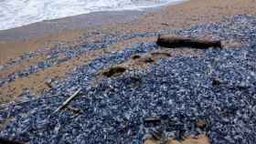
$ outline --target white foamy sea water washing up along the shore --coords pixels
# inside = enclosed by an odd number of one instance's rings
[[[182,0],[0,0],[0,30],[99,11],[142,9]]]

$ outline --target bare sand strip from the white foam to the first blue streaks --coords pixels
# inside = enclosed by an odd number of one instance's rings
[[[93,29],[101,31],[109,28],[116,32],[124,29],[127,32],[157,31],[218,22],[228,15],[253,15],[256,6],[250,5],[251,3],[253,0],[190,0],[146,11],[96,12],[4,30],[0,31],[0,64],[40,47],[52,47],[60,41],[66,44],[76,41],[75,45],[78,45],[82,42],[77,41]]]

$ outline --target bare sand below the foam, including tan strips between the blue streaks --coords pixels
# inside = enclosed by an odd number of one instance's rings
[[[255,15],[255,0],[191,0],[178,5],[166,5],[149,9],[146,12],[123,11],[77,15],[58,20],[0,31],[0,64],[24,53],[54,46],[79,46],[97,42],[104,34],[126,34],[133,32],[160,31],[162,29],[188,28],[193,25],[219,22],[229,15]],[[95,57],[118,51],[133,43],[155,41],[155,37],[133,38],[109,46],[105,50],[95,50],[86,56],[72,58],[69,61],[44,69],[29,77],[16,78],[15,81],[0,87],[0,101],[9,102],[18,98],[25,87],[36,94],[48,89],[45,79],[65,77],[74,67],[84,65]],[[59,56],[61,57],[61,56]],[[22,60],[12,67],[1,69],[0,77],[6,77],[15,71],[33,66],[44,56]]]

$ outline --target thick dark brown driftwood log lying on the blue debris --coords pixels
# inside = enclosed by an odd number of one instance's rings
[[[169,48],[176,47],[194,47],[194,48],[208,48],[208,47],[220,47],[221,42],[219,40],[204,40],[204,39],[193,39],[181,36],[158,36],[156,44],[158,46],[165,46]]]

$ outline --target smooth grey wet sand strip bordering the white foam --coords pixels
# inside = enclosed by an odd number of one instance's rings
[[[87,29],[91,26],[131,22],[144,13],[144,11],[137,10],[104,11],[44,20],[27,26],[0,30],[0,41],[26,40],[34,37],[54,35],[62,31]]]

